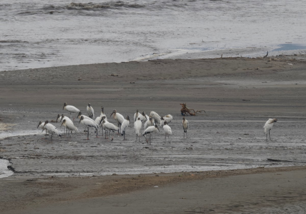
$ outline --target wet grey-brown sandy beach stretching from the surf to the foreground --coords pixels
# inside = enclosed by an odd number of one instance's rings
[[[0,179],[0,213],[304,213],[305,58],[1,72],[0,156],[15,172]],[[102,130],[99,138],[90,130],[86,140],[81,125],[69,140],[42,139],[39,121],[55,121],[64,102],[82,112],[90,102],[96,116],[103,106],[110,122],[113,109],[131,120],[136,109],[171,114],[173,135],[165,142],[160,128],[151,145],[144,137],[135,142],[131,121],[126,142],[119,135],[109,142]],[[183,102],[206,111],[186,116],[188,139]],[[268,118],[278,118],[272,141],[263,133]]]

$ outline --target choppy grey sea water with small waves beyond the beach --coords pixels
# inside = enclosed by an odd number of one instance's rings
[[[303,0],[0,2],[0,71],[306,53]]]

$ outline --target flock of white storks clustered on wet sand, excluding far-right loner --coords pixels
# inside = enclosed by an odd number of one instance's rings
[[[63,110],[66,110],[70,113],[70,118],[65,116],[64,114],[62,115],[58,114],[58,117],[56,119],[56,122],[58,122],[59,120],[62,123],[61,127],[62,126],[64,127],[64,133],[61,133],[60,131],[58,131],[54,125],[48,122],[48,120],[46,120],[44,123],[43,121],[40,121],[37,128],[41,128],[43,129],[43,131],[45,130],[46,135],[47,135],[47,132],[49,132],[49,136],[51,136],[49,139],[51,140],[52,140],[53,135],[62,137],[62,135],[64,134],[67,138],[69,138],[69,136],[71,138],[71,133],[73,131],[74,132],[78,131],[78,128],[73,124],[74,118],[72,120],[72,116],[71,116],[71,113],[76,113],[78,114],[77,118],[80,119],[79,124],[81,123],[85,125],[85,131],[87,127],[87,139],[89,139],[89,127],[94,128],[96,137],[98,137],[99,127],[102,127],[103,130],[105,130],[105,139],[110,138],[110,132],[112,131],[113,135],[110,141],[113,141],[115,131],[118,131],[118,134],[120,133],[121,135],[123,135],[123,140],[125,140],[125,130],[130,125],[129,116],[126,116],[126,118],[124,119],[124,117],[120,113],[118,113],[116,109],[114,109],[110,117],[113,116],[114,120],[116,120],[118,124],[118,126],[116,126],[107,121],[107,117],[104,114],[103,106],[101,106],[100,116],[96,118],[94,114],[94,109],[92,108],[90,103],[88,103],[88,106],[86,109],[87,109],[88,116],[82,115],[80,110],[74,107],[73,105],[67,105],[67,103],[64,103]],[[146,138],[147,144],[149,144],[149,142],[151,144],[151,134],[159,131],[159,127],[162,127],[163,130],[165,131],[165,142],[166,142],[167,135],[168,135],[168,142],[169,142],[169,135],[172,135],[172,131],[171,131],[171,127],[168,124],[172,121],[172,119],[173,117],[170,114],[166,116],[159,116],[156,112],[151,111],[150,115],[148,116],[146,115],[145,112],[140,113],[138,112],[138,110],[136,110],[136,113],[134,114],[134,128],[135,128],[135,133],[136,133],[136,141],[137,141],[137,137],[139,137],[139,142],[140,142],[140,136],[143,135]],[[143,122],[144,122],[144,131],[141,132]],[[185,138],[185,133],[186,133],[186,138],[187,138],[188,137],[187,136],[188,120],[186,120],[185,117],[183,118],[182,125],[183,125],[183,130],[184,130],[184,138]],[[102,130],[102,136],[103,136],[103,130]],[[149,138],[148,138],[148,135],[149,135]]]

